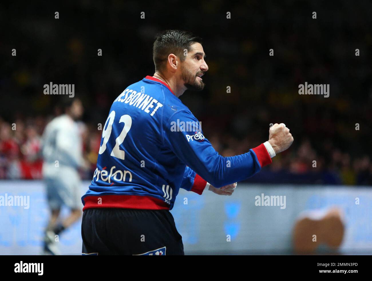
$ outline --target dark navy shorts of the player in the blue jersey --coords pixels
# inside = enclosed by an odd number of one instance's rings
[[[81,222],[83,255],[184,255],[168,210],[92,208]]]

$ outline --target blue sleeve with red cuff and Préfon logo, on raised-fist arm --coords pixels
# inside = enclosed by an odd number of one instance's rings
[[[183,123],[185,122],[185,123]],[[214,187],[239,182],[249,178],[271,163],[271,158],[263,143],[247,153],[223,157],[200,132],[193,132],[182,124],[196,124],[199,121],[189,110],[181,110],[171,115],[164,124],[164,144],[177,157]],[[180,124],[179,127],[174,124]]]

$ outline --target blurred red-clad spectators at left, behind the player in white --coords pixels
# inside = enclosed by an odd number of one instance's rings
[[[43,131],[53,116],[26,117],[10,124],[0,117],[0,179],[41,179]],[[89,163],[81,169],[83,179],[93,177],[102,131],[78,121],[83,139],[83,157]]]

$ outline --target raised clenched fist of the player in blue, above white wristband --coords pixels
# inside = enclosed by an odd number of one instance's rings
[[[275,123],[269,129],[269,143],[273,147],[275,154],[285,151],[293,142],[292,134],[283,123]]]

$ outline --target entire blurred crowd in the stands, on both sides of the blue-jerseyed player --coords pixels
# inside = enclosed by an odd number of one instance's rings
[[[0,119],[0,179],[42,178],[42,134],[51,119],[52,116],[26,117],[12,124]],[[96,169],[102,130],[91,123],[78,121],[78,124],[83,155],[89,163],[89,169],[80,173],[83,179],[90,179]],[[213,133],[209,141],[222,156],[243,154],[253,144],[248,136],[237,139]],[[326,143],[322,151],[316,151],[311,140],[304,139],[294,149],[275,156],[262,175],[263,180],[258,177],[258,182],[297,183],[301,179],[299,183],[371,185],[372,163],[368,155],[352,157],[332,142]],[[288,179],[283,181],[283,177]]]

